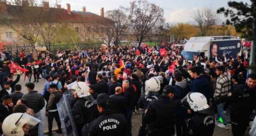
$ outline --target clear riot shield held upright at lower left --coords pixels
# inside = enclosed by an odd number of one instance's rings
[[[69,101],[67,99],[67,94],[63,94],[63,97],[57,104],[57,108],[65,135],[78,135],[77,127],[75,127],[75,122],[71,113]]]

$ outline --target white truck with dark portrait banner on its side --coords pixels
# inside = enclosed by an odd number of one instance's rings
[[[223,58],[225,55],[228,59],[230,56],[236,58],[238,53],[241,53],[241,48],[241,39],[237,36],[192,37],[185,44],[181,54],[189,61],[194,60],[194,56],[215,60],[216,56]]]

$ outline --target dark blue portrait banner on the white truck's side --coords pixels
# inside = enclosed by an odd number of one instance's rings
[[[223,57],[224,55],[226,58],[230,56],[236,58],[240,51],[241,40],[213,41],[210,44],[210,58]]]

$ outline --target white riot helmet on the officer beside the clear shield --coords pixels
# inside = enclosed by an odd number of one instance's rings
[[[75,90],[79,98],[91,96],[89,93],[89,85],[85,82],[75,82],[71,89]]]

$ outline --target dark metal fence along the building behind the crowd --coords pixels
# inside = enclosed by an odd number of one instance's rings
[[[159,42],[144,42],[147,46],[157,46]],[[76,48],[88,49],[98,49],[101,48],[103,43],[86,43],[86,44],[52,44],[51,46],[37,45],[35,46],[36,50],[39,51],[50,51],[56,53],[58,50],[63,51],[66,49],[76,50]],[[137,42],[122,42],[119,43],[119,46],[137,46]],[[6,50],[10,51],[12,55],[14,53],[20,53],[21,51],[32,52],[32,47],[30,45],[12,45],[12,46],[3,46]]]

